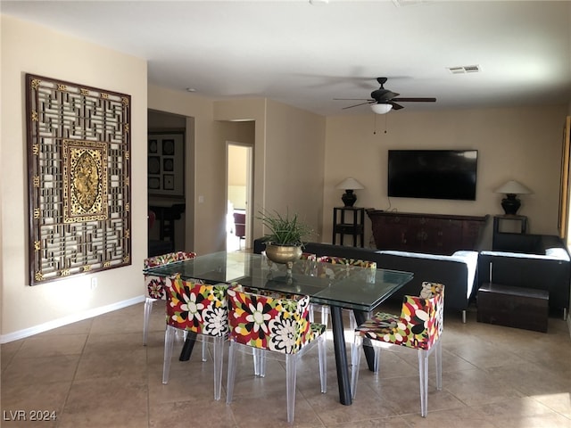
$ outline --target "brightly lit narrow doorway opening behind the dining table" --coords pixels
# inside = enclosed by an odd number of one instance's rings
[[[227,251],[252,247],[252,146],[227,142]]]

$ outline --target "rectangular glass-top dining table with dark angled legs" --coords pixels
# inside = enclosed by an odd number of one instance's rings
[[[271,292],[309,295],[312,303],[328,305],[331,310],[335,364],[342,404],[351,405],[351,383],[343,334],[342,309],[353,309],[358,323],[368,312],[407,284],[413,274],[388,269],[371,269],[341,264],[296,260],[290,268],[269,261],[263,254],[215,252],[168,265],[147,268],[154,276],[180,275],[208,284],[241,284]],[[366,351],[369,369],[373,353]]]

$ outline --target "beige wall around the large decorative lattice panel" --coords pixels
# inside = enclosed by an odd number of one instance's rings
[[[146,91],[144,60],[9,17],[1,18],[0,235],[2,340],[140,301],[146,257]],[[24,74],[131,95],[132,265],[29,286]],[[97,278],[91,290],[90,279]]]

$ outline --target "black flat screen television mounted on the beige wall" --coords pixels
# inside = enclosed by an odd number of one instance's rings
[[[388,195],[476,201],[477,150],[389,150]]]

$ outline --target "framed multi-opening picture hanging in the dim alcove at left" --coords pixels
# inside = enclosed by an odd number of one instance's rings
[[[149,133],[147,163],[149,194],[156,196],[184,197],[184,133]]]

